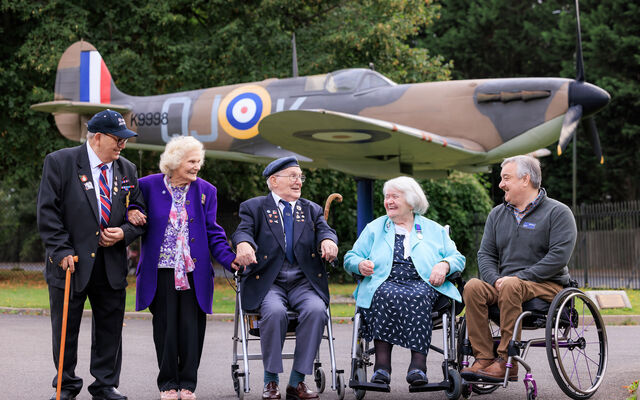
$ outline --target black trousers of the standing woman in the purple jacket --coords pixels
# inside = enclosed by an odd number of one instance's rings
[[[207,315],[198,305],[193,274],[189,290],[176,290],[174,271],[158,269],[158,285],[149,310],[158,357],[158,389],[196,390]]]

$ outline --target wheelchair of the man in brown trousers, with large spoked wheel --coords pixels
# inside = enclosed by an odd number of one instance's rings
[[[500,382],[464,380],[462,395],[488,394],[498,387],[507,387],[509,369],[514,362],[526,370],[524,386],[528,400],[536,399],[538,390],[525,361],[529,349],[545,347],[553,378],[562,391],[573,399],[588,399],[602,384],[607,369],[607,332],[598,307],[580,289],[576,281],[561,290],[548,303],[539,298],[522,305],[522,313],[515,322],[513,337],[509,342],[507,370]],[[489,319],[493,336],[494,353],[500,343],[500,311],[489,307]],[[495,324],[495,325],[494,325]],[[518,340],[522,330],[544,329],[544,337]],[[465,317],[458,321],[458,367],[471,365],[473,349],[466,329]],[[497,353],[495,354],[497,356]]]

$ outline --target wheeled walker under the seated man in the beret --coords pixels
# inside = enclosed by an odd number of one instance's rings
[[[260,329],[258,328],[258,320],[260,314],[257,312],[247,312],[242,309],[242,300],[240,296],[240,278],[241,274],[235,272],[234,280],[236,287],[236,308],[234,314],[233,329],[233,357],[231,364],[231,378],[233,379],[233,388],[240,400],[244,399],[244,394],[249,393],[249,360],[262,360],[262,353],[249,353],[249,343],[260,341]],[[333,327],[331,323],[331,306],[327,306],[327,331],[322,339],[329,343],[329,357],[331,362],[331,389],[336,391],[338,399],[342,400],[345,394],[344,371],[336,368],[336,356],[334,349]],[[286,341],[295,341],[295,331],[297,326],[297,314],[293,311],[287,312],[289,317],[289,325],[287,327]],[[238,352],[238,345],[242,346],[241,353]],[[258,343],[259,346],[259,343]],[[242,359],[242,368],[238,361]],[[292,352],[283,352],[282,359],[293,359]],[[318,393],[322,393],[326,386],[326,376],[322,363],[320,362],[320,349],[316,354],[313,364],[313,377]]]

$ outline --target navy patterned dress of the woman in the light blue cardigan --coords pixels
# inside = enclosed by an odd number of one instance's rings
[[[411,257],[404,258],[404,235],[396,235],[391,274],[376,290],[370,308],[361,308],[362,337],[427,354],[431,308],[440,293],[422,280]]]

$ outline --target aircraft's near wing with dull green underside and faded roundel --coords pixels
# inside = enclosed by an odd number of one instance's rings
[[[325,110],[274,113],[260,122],[259,131],[269,142],[311,158],[314,165],[370,178],[440,176],[486,154],[469,140]]]

